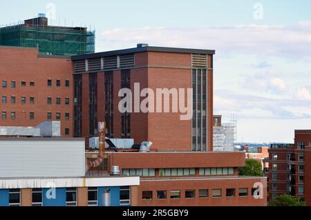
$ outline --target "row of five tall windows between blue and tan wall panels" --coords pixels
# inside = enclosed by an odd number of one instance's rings
[[[120,187],[120,205],[130,204],[129,186]],[[43,206],[43,189],[32,189],[32,206]],[[98,188],[88,188],[88,206],[98,206]],[[9,190],[9,206],[21,206],[21,190]],[[66,188],[66,206],[77,206],[77,188]]]

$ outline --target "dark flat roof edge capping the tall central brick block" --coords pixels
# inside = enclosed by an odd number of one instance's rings
[[[81,59],[93,59],[99,57],[111,57],[122,54],[133,54],[138,52],[176,52],[176,53],[187,53],[187,54],[215,54],[215,50],[204,50],[204,49],[191,49],[191,48],[164,48],[154,46],[143,46],[137,48],[129,48],[123,50],[111,50],[106,52],[96,52],[93,54],[84,54],[71,57],[73,61]]]

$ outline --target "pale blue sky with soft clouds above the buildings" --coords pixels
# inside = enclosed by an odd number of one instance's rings
[[[311,1],[4,1],[0,24],[44,12],[96,30],[96,50],[216,50],[214,113],[238,119],[238,141],[292,142],[311,129]]]

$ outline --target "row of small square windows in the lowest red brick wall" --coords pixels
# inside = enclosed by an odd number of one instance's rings
[[[255,193],[257,188],[252,188],[252,194]],[[238,197],[247,197],[249,192],[248,188],[239,188],[238,189]],[[181,192],[182,190],[170,190],[169,191],[169,199],[181,199]],[[236,197],[236,189],[235,188],[228,188],[225,190],[226,197]],[[209,197],[209,190],[202,189],[198,190],[198,195],[196,195],[196,190],[185,190],[184,198],[185,199],[206,199]],[[222,189],[213,189],[211,190],[211,197],[212,198],[221,198],[223,197],[223,190]],[[142,192],[142,199],[151,200],[153,199],[153,191],[143,191]],[[158,190],[156,191],[156,199],[168,199],[167,190]]]

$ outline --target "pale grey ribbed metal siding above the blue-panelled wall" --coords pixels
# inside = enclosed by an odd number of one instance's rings
[[[84,141],[0,141],[0,177],[84,177]]]

